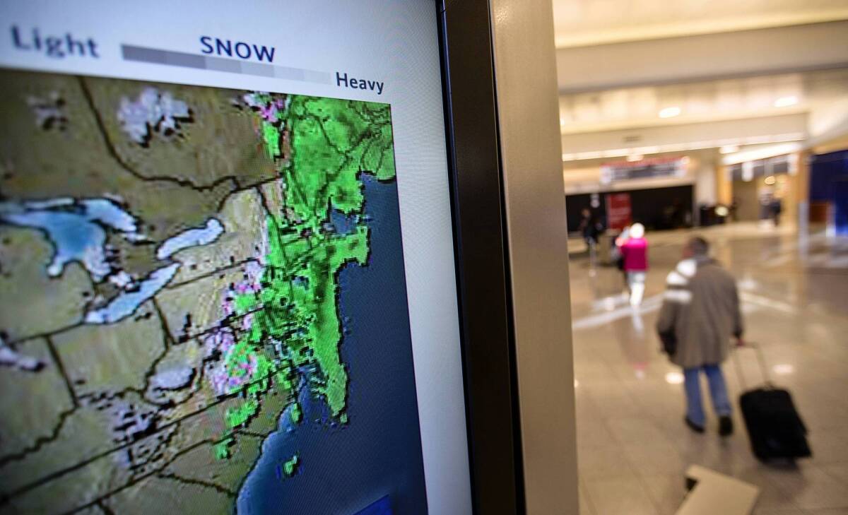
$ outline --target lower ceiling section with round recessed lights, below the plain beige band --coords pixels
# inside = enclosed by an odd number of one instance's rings
[[[560,121],[565,162],[824,140],[848,127],[848,69],[570,93]]]

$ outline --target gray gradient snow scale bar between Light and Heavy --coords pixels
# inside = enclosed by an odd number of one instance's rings
[[[196,53],[171,52],[170,50],[159,50],[158,48],[133,47],[131,45],[121,45],[120,49],[125,61],[168,64],[170,66],[180,66],[182,68],[209,69],[232,74],[259,75],[262,77],[276,77],[277,79],[285,80],[317,82],[319,84],[330,84],[332,80],[332,75],[329,72],[316,71],[314,69],[290,68],[288,66],[275,66],[274,64],[253,63],[249,61],[238,61],[236,59],[204,56]]]

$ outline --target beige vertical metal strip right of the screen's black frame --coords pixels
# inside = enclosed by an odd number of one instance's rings
[[[553,6],[490,5],[527,515],[571,514],[577,438]]]

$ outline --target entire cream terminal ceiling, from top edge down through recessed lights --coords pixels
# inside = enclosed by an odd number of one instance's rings
[[[563,160],[848,132],[848,0],[553,0]],[[791,101],[786,101],[791,99]],[[675,114],[664,117],[664,109]]]

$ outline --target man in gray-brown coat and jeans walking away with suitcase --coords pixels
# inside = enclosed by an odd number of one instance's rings
[[[734,277],[709,253],[709,243],[700,237],[691,238],[683,247],[683,260],[666,280],[656,329],[672,363],[683,368],[686,425],[704,432],[699,378],[703,371],[719,418],[718,433],[727,436],[734,432],[734,424],[720,365],[728,357],[731,335],[742,345],[742,313]]]

